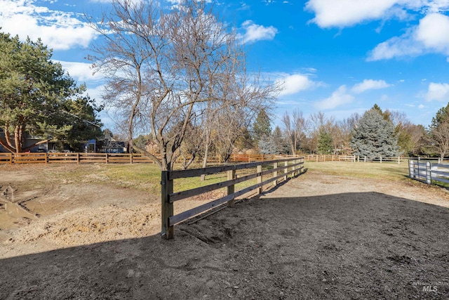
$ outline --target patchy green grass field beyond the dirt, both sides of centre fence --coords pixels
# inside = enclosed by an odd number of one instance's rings
[[[325,174],[349,176],[355,178],[383,178],[390,181],[405,181],[408,176],[408,165],[395,163],[352,163],[352,162],[306,162],[304,167],[309,171]],[[152,195],[161,194],[161,171],[156,164],[80,164],[67,166],[60,164],[31,168],[52,181],[67,183],[100,183],[112,184],[123,188],[142,190]],[[34,169],[34,170],[33,170]],[[240,170],[237,176],[255,173],[255,169]],[[182,191],[226,181],[225,173],[206,176],[205,181],[199,177],[180,178],[174,183],[174,190]],[[236,185],[236,190],[255,184],[256,179]],[[39,185],[39,182],[34,185]]]

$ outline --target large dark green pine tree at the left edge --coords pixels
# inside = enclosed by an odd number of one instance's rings
[[[76,86],[51,56],[40,39],[21,42],[0,33],[0,144],[11,152],[26,150],[26,132],[70,143],[100,134],[101,108],[81,97],[86,87]]]

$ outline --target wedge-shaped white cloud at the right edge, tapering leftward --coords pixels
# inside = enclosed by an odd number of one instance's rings
[[[400,37],[378,44],[368,60],[382,60],[401,56],[419,56],[423,53],[449,55],[449,17],[441,13],[430,13]]]

